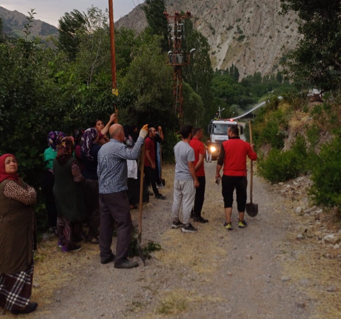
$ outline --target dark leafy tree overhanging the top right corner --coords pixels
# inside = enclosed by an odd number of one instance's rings
[[[282,14],[297,13],[303,37],[287,56],[286,66],[306,88],[339,90],[341,76],[341,0],[281,0]]]

